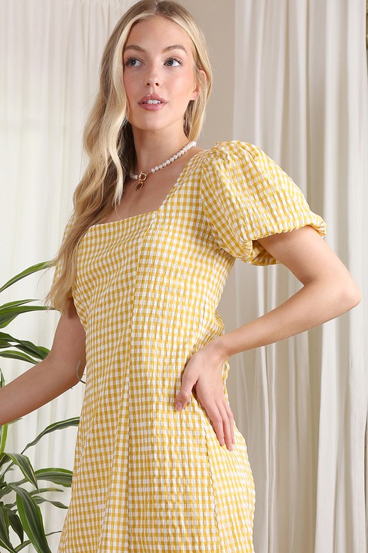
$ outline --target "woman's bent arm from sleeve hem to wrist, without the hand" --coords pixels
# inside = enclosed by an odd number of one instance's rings
[[[222,336],[217,346],[229,357],[314,328],[360,301],[351,274],[313,228],[275,234],[259,243],[293,272],[303,288],[263,317]]]

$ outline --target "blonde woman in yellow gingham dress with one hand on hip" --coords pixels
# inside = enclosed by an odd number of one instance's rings
[[[253,479],[227,359],[359,301],[320,238],[325,223],[280,167],[250,144],[196,147],[210,91],[184,8],[143,0],[126,12],[102,59],[90,163],[57,257],[55,341],[0,391],[3,424],[87,366],[60,553],[252,552]],[[235,258],[277,259],[303,287],[224,334],[216,307]]]

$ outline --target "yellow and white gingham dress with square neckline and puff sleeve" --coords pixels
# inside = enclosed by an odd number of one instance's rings
[[[72,289],[86,391],[59,553],[250,553],[244,438],[220,447],[200,403],[174,400],[191,355],[224,328],[234,259],[275,260],[257,238],[325,223],[260,149],[197,153],[157,211],[93,225]],[[229,366],[223,371],[224,392]]]

